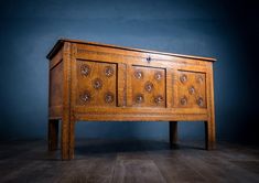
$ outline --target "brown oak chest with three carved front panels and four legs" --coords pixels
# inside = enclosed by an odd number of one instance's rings
[[[48,149],[74,158],[76,121],[203,121],[215,148],[214,58],[58,40],[50,60]]]

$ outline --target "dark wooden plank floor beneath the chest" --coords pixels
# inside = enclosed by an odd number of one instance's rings
[[[45,141],[0,143],[0,182],[259,183],[259,148],[203,142],[77,140],[76,159],[60,161]]]

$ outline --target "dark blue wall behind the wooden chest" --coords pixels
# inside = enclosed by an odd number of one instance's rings
[[[216,57],[219,140],[258,142],[258,15],[249,1],[9,0],[0,2],[0,138],[45,138],[47,61],[60,37]],[[181,138],[203,138],[199,122]],[[168,123],[79,122],[77,137],[168,138]],[[253,140],[252,140],[253,139]]]

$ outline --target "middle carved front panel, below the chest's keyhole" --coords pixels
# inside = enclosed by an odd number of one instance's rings
[[[165,107],[165,69],[133,66],[131,85],[133,106]]]

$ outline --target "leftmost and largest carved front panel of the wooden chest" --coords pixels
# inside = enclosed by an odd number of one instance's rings
[[[76,103],[83,106],[116,106],[117,65],[77,61]]]

